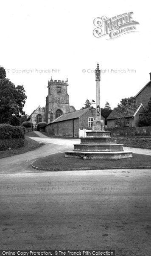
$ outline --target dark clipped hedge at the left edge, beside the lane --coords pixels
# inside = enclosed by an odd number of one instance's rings
[[[24,127],[0,124],[0,151],[23,146],[24,134]]]

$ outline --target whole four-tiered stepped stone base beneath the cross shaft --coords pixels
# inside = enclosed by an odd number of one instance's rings
[[[81,138],[80,144],[74,144],[73,151],[65,152],[65,157],[82,159],[123,159],[132,157],[132,152],[123,151],[123,144],[117,144],[111,138],[110,131],[87,131],[87,137]]]

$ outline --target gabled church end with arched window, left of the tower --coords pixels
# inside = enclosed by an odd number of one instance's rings
[[[45,122],[45,110],[39,106],[31,113],[27,121],[32,122],[33,128],[36,129],[39,122]]]

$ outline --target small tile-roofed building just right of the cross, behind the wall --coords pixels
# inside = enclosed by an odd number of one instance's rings
[[[145,107],[142,103],[114,108],[106,119],[107,128],[137,127],[144,112]]]

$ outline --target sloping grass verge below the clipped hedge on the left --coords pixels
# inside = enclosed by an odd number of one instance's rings
[[[6,151],[0,151],[0,158],[11,157],[14,155],[23,154],[25,152],[40,148],[43,145],[45,145],[45,144],[38,143],[35,140],[32,140],[30,138],[25,138],[25,143],[24,143],[23,147],[14,148],[14,149],[6,150]]]

